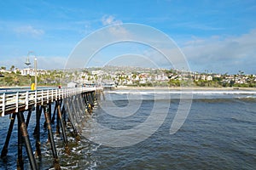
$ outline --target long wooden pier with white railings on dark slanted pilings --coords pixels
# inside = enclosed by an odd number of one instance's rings
[[[48,129],[48,141],[53,156],[53,166],[55,169],[61,169],[58,155],[55,148],[55,140],[52,132],[52,123],[56,119],[56,133],[62,134],[63,145],[65,151],[69,154],[68,141],[66,135],[67,121],[70,122],[76,139],[79,139],[79,126],[83,123],[85,113],[91,113],[94,102],[100,99],[102,88],[53,88],[40,89],[35,91],[16,91],[0,94],[0,116],[10,117],[9,130],[3,145],[1,157],[4,158],[8,154],[9,140],[15,118],[18,119],[18,156],[17,169],[24,169],[24,161],[22,158],[22,145],[26,146],[26,154],[32,169],[38,169],[36,157],[40,158],[40,117],[44,112],[44,127]],[[54,111],[52,112],[52,105]],[[24,112],[27,111],[26,120]],[[32,111],[36,114],[36,125],[33,135],[36,138],[35,155],[33,154],[32,144],[29,139],[27,127],[32,115]]]

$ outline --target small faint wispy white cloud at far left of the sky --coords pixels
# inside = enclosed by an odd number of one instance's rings
[[[19,35],[31,35],[32,37],[40,37],[44,35],[44,30],[36,29],[32,26],[20,26],[15,28],[15,32]]]

